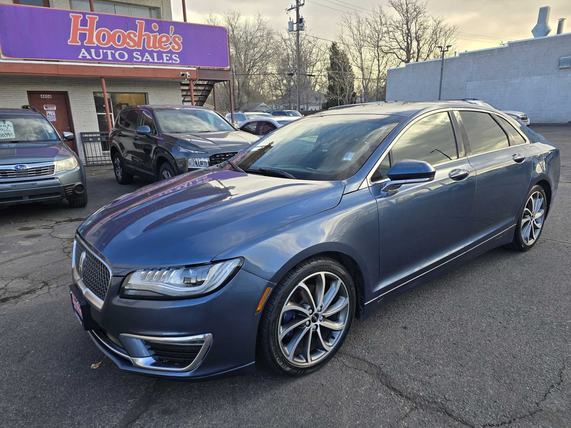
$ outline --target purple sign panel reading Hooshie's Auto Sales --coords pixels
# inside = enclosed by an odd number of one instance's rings
[[[224,27],[0,3],[8,58],[226,68]]]

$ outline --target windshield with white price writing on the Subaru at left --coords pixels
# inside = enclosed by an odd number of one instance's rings
[[[0,114],[0,143],[52,141],[59,136],[43,116]]]

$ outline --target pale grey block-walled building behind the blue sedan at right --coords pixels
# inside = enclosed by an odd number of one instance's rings
[[[478,98],[526,112],[532,123],[571,122],[571,33],[510,42],[444,60],[442,99]],[[387,71],[387,100],[438,99],[440,59]]]

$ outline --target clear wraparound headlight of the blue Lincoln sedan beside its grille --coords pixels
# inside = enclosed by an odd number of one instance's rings
[[[242,259],[232,259],[190,268],[137,270],[125,278],[120,296],[151,299],[202,296],[230,281],[242,262]]]

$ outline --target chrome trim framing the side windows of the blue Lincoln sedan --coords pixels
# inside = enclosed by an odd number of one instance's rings
[[[476,111],[476,112],[480,112],[480,113],[487,113],[487,114],[496,115],[496,116],[499,116],[499,117],[501,117],[501,118],[503,118],[503,119],[505,119],[505,118],[508,118],[508,119],[509,119],[509,116],[506,115],[506,114],[504,114],[504,113],[502,113],[502,112],[496,112],[496,111],[492,111],[492,110],[485,110],[484,108],[447,107],[447,108],[439,108],[439,109],[437,109],[437,110],[431,110],[431,111],[425,112],[424,114],[421,114],[421,115],[417,116],[416,118],[414,118],[413,120],[411,120],[411,122],[407,123],[407,125],[406,125],[403,129],[400,130],[399,134],[397,134],[397,135],[395,136],[395,138],[393,138],[391,144],[389,144],[389,146],[385,149],[385,151],[383,152],[383,154],[379,157],[379,160],[376,161],[376,163],[375,163],[375,165],[373,165],[373,168],[371,169],[371,171],[369,171],[369,173],[367,174],[367,176],[366,176],[365,179],[363,180],[363,183],[361,183],[361,185],[359,186],[359,190],[360,190],[360,189],[367,188],[367,187],[371,187],[372,185],[376,185],[376,184],[379,184],[379,183],[384,183],[384,181],[389,181],[388,178],[387,178],[387,179],[383,179],[383,180],[379,180],[379,181],[371,181],[371,177],[373,176],[373,174],[375,173],[375,171],[377,170],[377,168],[379,168],[379,165],[380,165],[380,164],[383,162],[383,160],[387,157],[387,155],[388,155],[389,152],[391,151],[392,147],[399,141],[399,139],[401,138],[401,136],[403,136],[403,134],[408,131],[408,128],[410,128],[413,124],[415,124],[415,123],[418,122],[419,120],[424,119],[424,118],[427,118],[428,116],[431,116],[431,115],[433,115],[433,114],[441,113],[441,112],[451,112],[451,113],[452,113],[453,111]],[[509,123],[509,120],[508,120],[508,123]],[[452,122],[451,122],[451,125],[452,125],[452,127],[453,127]],[[500,129],[501,129],[502,131],[504,131],[504,130],[501,128],[501,126],[500,126],[499,124],[498,124],[498,126],[500,127]],[[505,150],[506,148],[513,148],[513,147],[518,147],[518,146],[525,146],[525,144],[530,144],[529,139],[524,135],[523,132],[521,132],[520,130],[518,130],[518,128],[515,127],[515,126],[514,126],[513,128],[524,138],[525,143],[516,144],[515,146],[501,147],[501,148],[497,148],[497,149],[494,149],[494,150],[489,150],[489,151],[486,151],[486,152],[480,152],[480,153],[477,153],[477,154],[475,154],[475,155],[474,155],[474,154],[470,154],[470,155],[468,155],[468,156],[464,156],[463,158],[448,160],[448,161],[446,161],[446,162],[439,163],[439,164],[432,165],[432,166],[433,166],[434,168],[437,168],[437,167],[440,167],[440,166],[442,166],[442,165],[446,165],[446,164],[455,162],[455,161],[457,161],[457,160],[470,159],[470,158],[473,158],[474,156],[485,155],[485,154],[488,154],[488,153],[493,153],[493,152],[497,152],[497,151],[500,151],[500,150]],[[454,128],[453,128],[453,130],[454,130]],[[504,134],[505,134],[505,131],[504,131]],[[456,141],[456,144],[458,144],[458,143],[459,143],[459,142]],[[509,144],[509,137],[508,137],[508,144]]]

